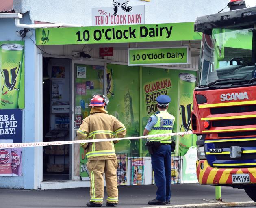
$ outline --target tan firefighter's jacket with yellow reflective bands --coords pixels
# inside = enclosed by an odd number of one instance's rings
[[[83,139],[108,139],[121,138],[126,134],[124,124],[117,120],[116,117],[95,112],[86,117],[77,131],[79,140]],[[118,141],[93,142],[89,145],[86,156],[90,160],[107,160],[116,159],[114,143]],[[85,148],[88,143],[80,143]]]

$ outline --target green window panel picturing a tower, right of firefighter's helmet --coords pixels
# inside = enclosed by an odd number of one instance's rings
[[[107,96],[108,113],[124,124],[126,137],[139,136],[139,67],[108,64]],[[121,140],[115,152],[139,153],[139,140]]]

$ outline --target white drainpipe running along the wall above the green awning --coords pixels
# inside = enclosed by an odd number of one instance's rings
[[[15,25],[17,28],[57,28],[57,27],[82,27],[80,24],[66,24],[66,23],[49,23],[49,24],[20,24],[22,14],[20,13],[2,13],[1,18],[15,18]]]

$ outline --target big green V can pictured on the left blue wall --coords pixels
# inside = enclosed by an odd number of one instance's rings
[[[0,45],[0,109],[18,108],[23,52],[23,45]]]

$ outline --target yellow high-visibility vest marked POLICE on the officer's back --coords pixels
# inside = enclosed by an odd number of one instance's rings
[[[174,126],[174,116],[167,111],[158,111],[154,115],[158,117],[158,121],[150,130],[148,135],[171,134]],[[149,138],[148,141],[160,141],[161,143],[169,144],[171,143],[171,136]]]

